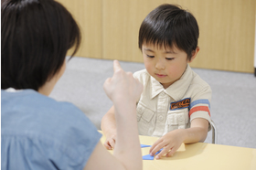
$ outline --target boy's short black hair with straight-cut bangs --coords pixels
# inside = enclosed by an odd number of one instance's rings
[[[159,5],[145,18],[139,31],[139,48],[143,44],[154,44],[158,47],[176,46],[192,57],[197,48],[199,28],[196,18],[178,5]]]

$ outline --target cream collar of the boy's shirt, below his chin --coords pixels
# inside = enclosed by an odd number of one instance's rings
[[[160,92],[165,91],[165,93],[172,97],[175,101],[180,101],[187,92],[190,82],[193,79],[192,74],[192,69],[187,64],[187,69],[181,78],[176,80],[167,89],[164,89],[162,84],[151,76],[151,99],[155,98],[155,96],[157,96]]]

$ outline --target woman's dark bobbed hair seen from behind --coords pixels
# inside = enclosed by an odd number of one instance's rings
[[[80,47],[80,28],[53,0],[2,0],[1,89],[38,90]]]

